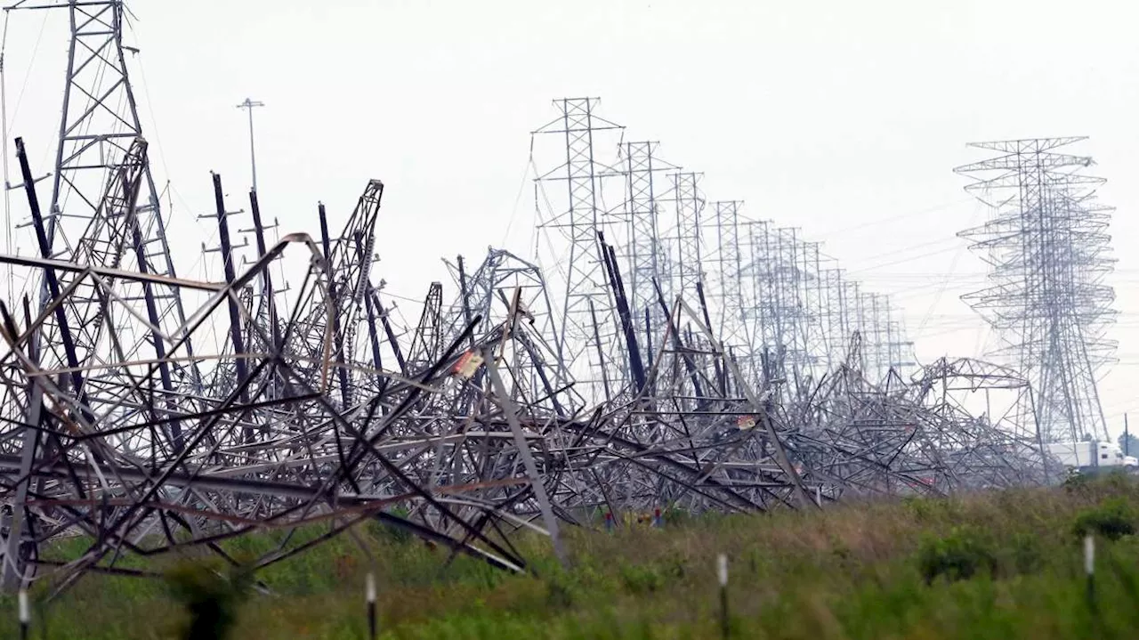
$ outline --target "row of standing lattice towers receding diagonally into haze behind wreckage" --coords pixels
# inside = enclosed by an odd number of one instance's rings
[[[621,301],[606,279],[599,232],[620,252],[646,364],[675,296],[706,305],[710,329],[756,378],[811,384],[857,362],[877,383],[912,364],[896,310],[846,280],[818,243],[795,228],[746,220],[739,200],[710,200],[702,173],[661,159],[657,142],[620,139],[624,128],[597,115],[596,98],[555,105],[559,116],[535,133],[559,136],[564,148],[540,148],[547,155],[535,164],[554,169],[540,170],[535,205],[541,249],[552,259],[541,262],[557,270],[550,284],[562,300],[558,353],[579,383],[607,393],[629,379]],[[851,360],[855,342],[862,346]]]

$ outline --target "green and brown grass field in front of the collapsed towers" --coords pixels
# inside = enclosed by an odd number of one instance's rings
[[[719,638],[715,557],[730,565],[732,638],[957,639],[1139,635],[1139,485],[1123,477],[822,512],[704,517],[613,534],[568,531],[572,568],[524,540],[510,576],[379,528],[384,638]],[[1080,532],[1097,534],[1089,601]],[[1112,540],[1115,539],[1115,540]],[[268,544],[251,539],[244,544]],[[364,638],[370,560],[347,536],[271,567],[231,638]],[[15,601],[0,600],[0,638]],[[10,615],[9,615],[10,612]],[[179,638],[162,581],[88,576],[38,607],[33,638]],[[44,627],[46,625],[46,627]]]

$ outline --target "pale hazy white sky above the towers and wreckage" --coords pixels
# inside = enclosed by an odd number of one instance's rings
[[[956,233],[984,211],[952,173],[965,143],[1089,136],[1072,153],[1116,206],[1120,363],[1101,383],[1113,430],[1139,416],[1139,9],[1125,1],[130,2],[125,40],[156,179],[171,181],[188,277],[213,230],[211,170],[232,208],[249,187],[257,109],[262,208],[281,231],[333,227],[370,178],[386,184],[377,266],[420,298],[440,257],[525,254],[530,131],[550,100],[601,98],[629,140],[704,173],[712,199],[800,227],[852,277],[893,294],[920,360],[980,355],[958,296],[984,268]],[[13,13],[9,138],[50,170],[66,11]],[[519,192],[522,197],[519,198]],[[43,196],[41,196],[43,197]],[[14,215],[17,214],[14,210]],[[21,232],[26,243],[26,230]],[[452,292],[446,293],[449,298]],[[410,303],[408,303],[410,305]]]

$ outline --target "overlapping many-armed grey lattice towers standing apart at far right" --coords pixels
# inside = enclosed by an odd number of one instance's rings
[[[992,208],[989,222],[959,233],[991,266],[991,286],[964,300],[1031,383],[1046,442],[1107,437],[1096,380],[1115,351],[1104,338],[1114,320],[1104,284],[1112,210],[1095,200],[1104,180],[1081,173],[1092,159],[1055,153],[1083,139],[977,142],[1000,155],[954,170],[975,178],[966,190]]]

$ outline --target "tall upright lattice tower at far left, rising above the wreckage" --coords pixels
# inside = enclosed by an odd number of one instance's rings
[[[103,218],[126,215],[120,237],[130,247],[129,257],[118,246],[107,260],[118,265],[130,261],[139,272],[175,277],[173,260],[166,239],[158,192],[155,189],[150,163],[141,158],[141,175],[131,211],[103,212],[104,195],[116,178],[123,163],[129,162],[132,146],[142,139],[138,104],[126,69],[124,52],[132,50],[123,44],[122,0],[72,1],[48,7],[28,6],[28,9],[66,7],[71,39],[67,51],[67,72],[59,122],[59,140],[52,173],[51,204],[44,220],[48,247],[52,257],[83,254],[80,238],[91,228],[104,224]],[[24,7],[17,7],[24,8]],[[137,200],[134,199],[137,198]],[[159,334],[172,331],[186,322],[180,296],[163,287],[142,287],[138,309],[154,330],[134,336],[125,348],[129,352],[151,352],[159,359],[165,352]],[[41,300],[47,301],[47,282],[41,284]],[[93,290],[76,296],[77,300],[98,305]],[[92,344],[84,344],[91,342]],[[93,350],[98,337],[76,336],[80,351]],[[192,353],[192,346],[188,347]],[[186,369],[162,364],[163,391],[171,394],[179,378],[191,385],[200,384],[195,366]]]

